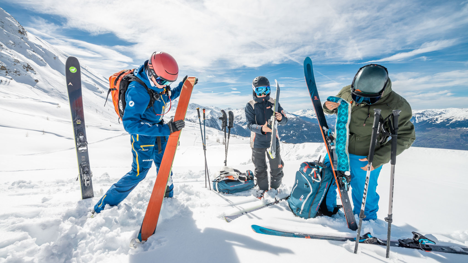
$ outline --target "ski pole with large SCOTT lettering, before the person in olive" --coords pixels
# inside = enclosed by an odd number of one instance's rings
[[[359,213],[358,235],[356,237],[356,245],[354,246],[354,254],[358,253],[359,238],[361,237],[362,219],[366,217],[366,215],[364,215],[364,209],[366,208],[367,187],[369,186],[369,177],[371,175],[372,161],[374,159],[374,151],[375,151],[375,145],[377,144],[377,137],[379,136],[379,129],[380,129],[380,109],[374,109],[374,123],[372,125],[371,145],[369,146],[369,157],[367,158],[368,163],[367,163],[366,182],[364,183],[364,193],[362,196],[361,212]]]

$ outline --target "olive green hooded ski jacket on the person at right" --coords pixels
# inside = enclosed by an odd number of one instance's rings
[[[413,144],[416,139],[414,125],[409,121],[413,116],[411,113],[411,106],[409,103],[396,92],[392,91],[392,81],[388,79],[387,87],[385,88],[382,98],[372,105],[352,101],[351,98],[351,85],[341,89],[336,97],[343,98],[347,102],[351,102],[351,121],[350,121],[350,135],[349,135],[349,153],[367,156],[369,154],[369,146],[371,142],[372,124],[374,120],[374,109],[380,109],[381,116],[385,119],[392,113],[392,110],[401,110],[398,119],[398,139],[396,154],[402,153]],[[336,113],[335,110],[329,110],[323,104],[323,111],[327,114]],[[384,127],[388,128],[388,120],[384,123]],[[383,137],[380,133],[378,141]],[[390,161],[390,140],[382,143],[377,143],[375,146],[375,153],[372,166],[374,168],[380,167],[382,164]]]

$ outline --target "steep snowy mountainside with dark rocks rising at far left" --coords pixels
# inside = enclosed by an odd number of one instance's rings
[[[40,113],[69,119],[65,85],[68,55],[27,32],[3,9],[0,9],[0,28],[0,110],[15,113],[10,119],[0,119],[0,125],[47,130],[30,127],[22,116]],[[111,103],[103,107],[107,80],[86,65],[81,65],[81,73],[87,123],[107,126],[111,125],[108,120],[115,123],[117,117]]]

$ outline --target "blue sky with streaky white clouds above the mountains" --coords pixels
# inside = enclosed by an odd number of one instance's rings
[[[167,51],[191,102],[241,108],[258,75],[287,111],[311,108],[302,61],[322,100],[358,68],[386,66],[414,110],[468,108],[468,1],[0,1],[29,32],[106,78]],[[156,14],[156,15],[155,15]]]

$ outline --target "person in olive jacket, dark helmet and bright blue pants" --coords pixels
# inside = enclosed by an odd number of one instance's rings
[[[336,97],[351,103],[348,146],[351,168],[350,184],[354,205],[353,212],[359,214],[366,181],[367,154],[371,141],[374,109],[380,109],[383,118],[390,115],[392,110],[402,111],[398,119],[399,130],[396,148],[398,155],[408,149],[416,139],[414,126],[410,122],[411,106],[401,95],[392,90],[392,81],[388,78],[387,68],[376,64],[361,67],[354,76],[352,84],[342,88]],[[327,101],[323,104],[323,111],[327,114],[334,114],[338,105],[339,103]],[[388,120],[383,126],[388,127]],[[380,133],[377,139],[379,143],[375,147],[364,220],[377,219],[377,211],[379,210],[379,195],[375,191],[377,178],[382,165],[390,161],[391,148],[390,141],[383,137],[383,134]],[[335,189],[336,185],[332,185],[326,198],[326,205],[330,212],[336,207]]]

